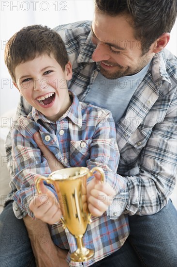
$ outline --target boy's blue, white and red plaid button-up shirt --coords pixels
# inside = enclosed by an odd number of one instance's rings
[[[73,103],[58,121],[49,121],[33,108],[28,117],[20,116],[14,123],[12,129],[14,176],[11,186],[15,192],[12,196],[15,200],[13,208],[18,218],[27,214],[34,217],[29,210],[29,201],[36,194],[34,175],[47,176],[51,173],[46,158],[33,140],[33,134],[36,131],[41,134],[44,145],[53,152],[64,167],[87,166],[91,169],[100,166],[103,167],[109,184],[115,184],[119,153],[113,117],[109,111],[79,102],[74,93],[71,94]],[[60,134],[61,130],[62,134]],[[83,143],[84,146],[82,146]],[[47,187],[55,192],[53,185],[47,185]],[[70,249],[70,252],[76,250],[74,237],[68,231],[65,233],[61,223],[49,228],[56,245],[63,249]],[[93,217],[93,223],[88,226],[84,241],[88,248],[95,250],[96,254],[87,265],[118,250],[128,234],[127,216],[122,215],[118,220],[107,218],[106,213],[99,218]],[[70,252],[68,261],[70,261]],[[71,263],[71,266],[77,266],[77,264]]]

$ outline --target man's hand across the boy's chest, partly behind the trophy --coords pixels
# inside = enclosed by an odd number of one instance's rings
[[[41,139],[41,135],[38,132],[36,132],[33,135],[33,137],[34,137],[34,141],[36,142],[36,144],[42,151],[43,156],[46,158],[51,171],[53,172],[55,170],[63,169],[64,168],[63,165],[57,160],[55,155],[45,147]]]

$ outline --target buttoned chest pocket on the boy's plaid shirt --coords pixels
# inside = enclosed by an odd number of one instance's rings
[[[92,139],[70,142],[70,165],[71,167],[86,167],[90,158],[90,144]]]

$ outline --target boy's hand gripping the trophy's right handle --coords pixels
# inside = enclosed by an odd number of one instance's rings
[[[108,183],[101,183],[101,175],[96,172],[87,185],[88,209],[96,217],[100,217],[112,203],[115,190]]]

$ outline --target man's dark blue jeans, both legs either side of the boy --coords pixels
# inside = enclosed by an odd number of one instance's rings
[[[131,234],[117,252],[93,267],[176,267],[177,210],[169,200],[159,213],[130,216]],[[0,267],[35,267],[23,220],[16,219],[12,202],[0,215]]]

